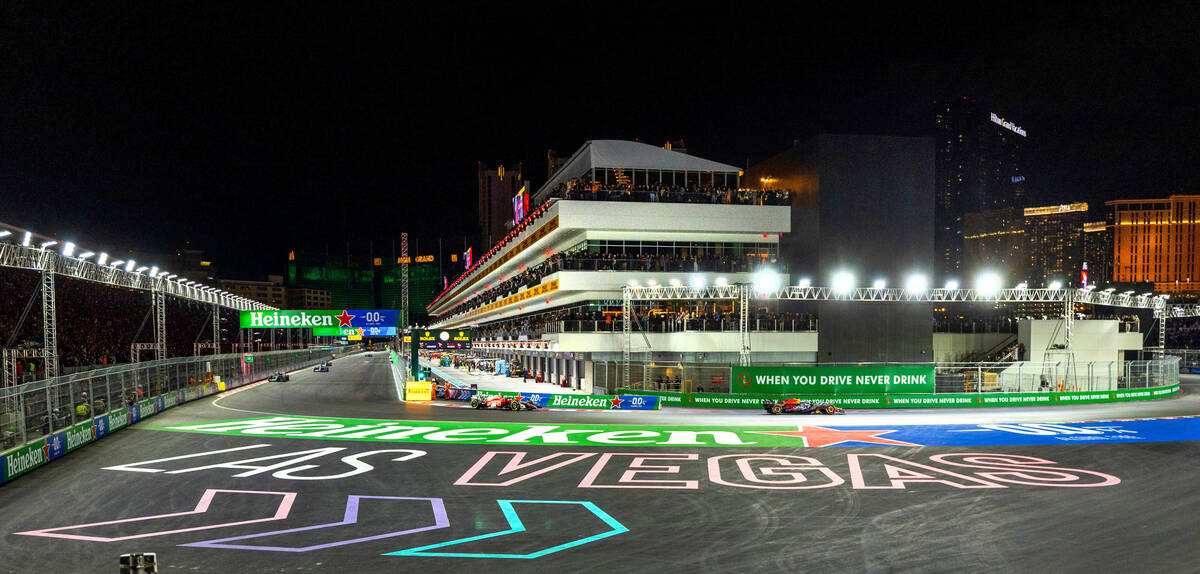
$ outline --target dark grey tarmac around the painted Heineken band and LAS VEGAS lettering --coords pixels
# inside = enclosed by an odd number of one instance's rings
[[[1200,394],[1196,390],[1200,389],[1194,384],[1188,382],[1180,399],[1147,403],[953,413],[852,412],[839,417],[836,424],[1064,421],[1198,414]],[[406,405],[396,400],[390,366],[380,354],[342,358],[328,373],[300,371],[292,375],[290,382],[265,383],[220,399],[184,405],[148,423],[164,426],[265,414],[589,424],[776,423],[752,411],[676,409],[613,415],[479,412]],[[516,415],[522,418],[515,419]],[[630,447],[497,448],[227,437],[144,426],[139,424],[97,441],[0,486],[0,572],[115,572],[120,554],[146,551],[158,554],[161,572],[217,573],[464,572],[470,568],[655,573],[1200,569],[1200,549],[1194,544],[1200,525],[1200,495],[1195,486],[1200,477],[1196,473],[1200,448],[1193,442],[989,448],[654,447],[638,450]],[[258,444],[262,447],[254,447]],[[227,449],[241,450],[212,453]],[[318,455],[318,449],[341,450]],[[394,452],[362,455],[377,450]],[[415,455],[410,450],[426,454]],[[305,454],[298,454],[301,452]],[[527,462],[556,453],[577,453],[581,458],[587,455],[587,460],[508,486],[482,485],[504,482],[534,468],[509,468],[511,472],[505,473],[502,467],[514,455],[499,454],[502,452],[523,453]],[[696,488],[644,488],[648,484],[629,488],[631,483],[622,483],[623,473],[636,467],[635,456],[629,453],[638,452],[646,456],[678,455],[673,461],[643,462],[646,467],[677,466],[678,470],[660,476],[642,472],[638,478],[686,479],[694,480]],[[1056,467],[1120,477],[1120,484],[1099,488],[1013,484],[1004,489],[956,488],[948,483],[961,485],[962,480],[954,479],[913,482],[902,489],[864,489],[852,484],[851,455],[889,456],[889,465],[876,464],[864,471],[871,474],[869,484],[880,484],[880,478],[888,476],[910,479],[920,473],[932,476],[936,471],[926,467],[948,467],[931,462],[931,456],[971,452],[1037,456],[1055,461]],[[200,453],[209,454],[161,460]],[[614,456],[620,458],[619,464],[613,462],[598,476],[589,476],[593,460],[614,453],[623,453]],[[238,477],[253,472],[252,468],[199,468],[284,454],[292,456],[277,459],[280,471],[254,476]],[[714,466],[730,462],[728,458],[720,456],[746,454],[806,456],[823,465],[844,484],[811,490],[763,490],[746,488],[744,483],[732,485],[714,480],[714,476],[718,479],[730,476],[728,466],[722,467],[724,474],[714,474]],[[295,461],[305,455],[313,458]],[[354,460],[373,468],[344,478],[304,479],[361,468],[344,461],[355,455],[360,459]],[[406,456],[415,458],[395,460]],[[479,467],[482,470],[474,474],[474,480],[467,480],[479,484],[455,485],[485,456],[493,459]],[[559,456],[565,461],[572,455]],[[274,462],[260,461],[254,466]],[[136,464],[139,465],[133,466]],[[318,466],[284,471],[298,464]],[[118,466],[125,468],[113,468]],[[272,476],[276,472],[288,472],[288,476]],[[944,478],[944,474],[937,477]],[[658,486],[667,485],[670,483]],[[228,490],[241,492],[222,492]],[[200,512],[197,504],[206,492],[210,492],[211,503]],[[288,504],[288,494],[294,497],[287,519],[263,521]],[[438,525],[438,504],[420,498],[440,498],[442,520],[449,526],[433,528]],[[500,501],[544,502],[514,502],[505,514],[506,503]],[[348,503],[354,506],[355,502],[354,524],[301,530],[344,521]],[[520,516],[523,531],[498,536],[511,530],[509,519],[514,514]],[[158,518],[145,519],[148,516]],[[250,522],[254,520],[258,521]],[[72,528],[64,528],[67,526]],[[418,532],[384,537],[403,531]],[[263,532],[276,533],[228,540]],[[413,551],[473,537],[478,539]],[[376,539],[337,545],[360,538]],[[197,543],[206,545],[197,546]],[[324,548],[298,551],[306,546]],[[560,550],[546,552],[554,548]],[[401,550],[414,555],[385,556]],[[431,552],[481,557],[422,555]]]

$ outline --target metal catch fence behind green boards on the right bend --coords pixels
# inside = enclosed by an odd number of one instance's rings
[[[1200,352],[1192,355],[1200,361]],[[1165,387],[1180,382],[1180,358],[1087,363],[756,363],[755,366],[932,366],[935,393],[1068,393]],[[732,363],[593,363],[595,393],[617,388],[668,393],[733,393]]]

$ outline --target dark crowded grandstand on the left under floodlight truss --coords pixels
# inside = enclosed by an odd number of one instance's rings
[[[268,348],[256,347],[253,333],[229,335],[238,311],[265,305],[6,223],[0,293],[5,387],[138,359]]]

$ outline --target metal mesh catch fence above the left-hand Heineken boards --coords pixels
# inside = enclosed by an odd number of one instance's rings
[[[344,351],[344,349],[343,349]],[[0,388],[0,450],[91,420],[112,409],[214,381],[239,387],[274,372],[328,360],[336,351],[306,348],[244,354],[182,357],[115,365]]]

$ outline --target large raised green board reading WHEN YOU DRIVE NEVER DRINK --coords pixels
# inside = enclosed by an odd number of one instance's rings
[[[734,366],[733,393],[912,394],[934,393],[932,366]]]

